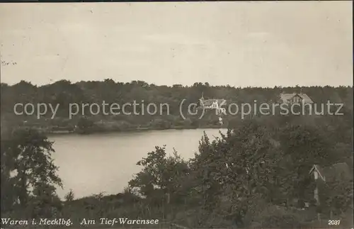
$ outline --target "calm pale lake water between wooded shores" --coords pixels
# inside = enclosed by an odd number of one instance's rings
[[[93,135],[54,135],[55,164],[64,189],[57,189],[60,197],[72,189],[75,197],[91,194],[117,194],[133,174],[140,171],[136,163],[154,147],[166,145],[166,152],[188,159],[198,151],[203,131],[210,139],[219,137],[219,129],[152,130],[135,133],[107,133]],[[221,129],[223,133],[226,130]]]

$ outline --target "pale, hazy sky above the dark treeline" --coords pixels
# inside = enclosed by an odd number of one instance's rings
[[[353,85],[352,20],[352,1],[1,3],[1,82]]]

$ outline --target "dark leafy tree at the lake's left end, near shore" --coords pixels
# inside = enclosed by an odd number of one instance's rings
[[[55,188],[62,181],[52,152],[52,142],[38,130],[16,129],[1,135],[1,199],[6,203],[1,210],[11,211],[18,204],[26,208],[43,198],[55,202]]]

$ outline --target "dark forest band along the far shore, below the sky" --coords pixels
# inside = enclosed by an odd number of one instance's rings
[[[315,104],[332,103],[345,104],[343,110],[353,110],[353,88],[350,86],[294,86],[273,88],[234,86],[211,86],[207,82],[196,82],[191,86],[174,84],[173,86],[156,86],[142,81],[130,83],[115,82],[105,79],[101,82],[76,82],[60,80],[53,84],[36,86],[30,82],[21,81],[12,86],[1,83],[1,118],[8,125],[27,126],[38,128],[45,133],[56,131],[72,132],[75,128],[79,133],[93,133],[102,131],[152,130],[169,128],[219,128],[218,117],[215,112],[206,113],[205,116],[188,115],[188,105],[198,103],[203,95],[205,99],[224,99],[227,104],[274,104],[278,102],[281,93],[307,94]],[[161,106],[164,111],[153,115],[137,106],[139,115],[105,115],[94,114],[89,107],[69,118],[70,104],[132,104],[134,101],[144,104],[168,104]],[[184,101],[180,108],[181,102]],[[38,118],[33,115],[15,115],[15,104],[50,104],[53,108],[58,106],[55,117],[48,111]],[[140,110],[139,110],[140,109]],[[181,116],[181,111],[185,114]],[[127,108],[132,112],[132,108]],[[224,126],[241,120],[241,114],[224,116]],[[245,117],[251,118],[252,113]],[[244,118],[244,117],[242,117]]]

